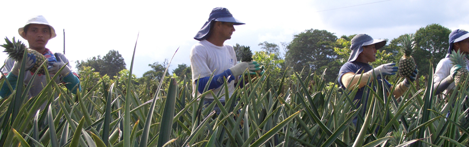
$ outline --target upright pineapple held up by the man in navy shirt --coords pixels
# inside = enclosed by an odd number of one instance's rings
[[[406,35],[401,39],[401,51],[404,55],[399,60],[399,74],[403,77],[409,77],[415,70],[415,61],[410,54],[415,48],[414,36]]]

